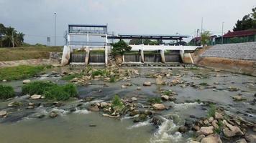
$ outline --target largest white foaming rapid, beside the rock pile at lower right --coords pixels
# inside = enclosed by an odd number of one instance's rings
[[[150,139],[151,143],[157,142],[180,142],[182,138],[182,134],[180,132],[175,132],[177,130],[177,125],[173,123],[171,119],[165,119],[162,117],[164,122],[160,125],[157,132]]]

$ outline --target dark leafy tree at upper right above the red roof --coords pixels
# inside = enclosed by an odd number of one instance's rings
[[[245,15],[242,20],[238,20],[233,31],[256,29],[256,7],[252,9],[251,14]]]

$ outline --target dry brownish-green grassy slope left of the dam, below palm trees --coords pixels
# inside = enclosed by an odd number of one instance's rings
[[[25,46],[0,48],[0,61],[48,59],[50,52],[62,52],[63,46]]]

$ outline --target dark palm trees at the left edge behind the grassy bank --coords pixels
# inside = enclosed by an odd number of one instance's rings
[[[0,24],[0,47],[22,46],[24,36],[11,26],[5,27],[4,24]]]

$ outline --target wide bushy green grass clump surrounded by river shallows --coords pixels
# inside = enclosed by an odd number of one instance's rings
[[[77,97],[78,91],[74,84],[58,86],[52,82],[31,82],[22,87],[23,94],[42,94],[46,99],[68,100],[70,97]]]

